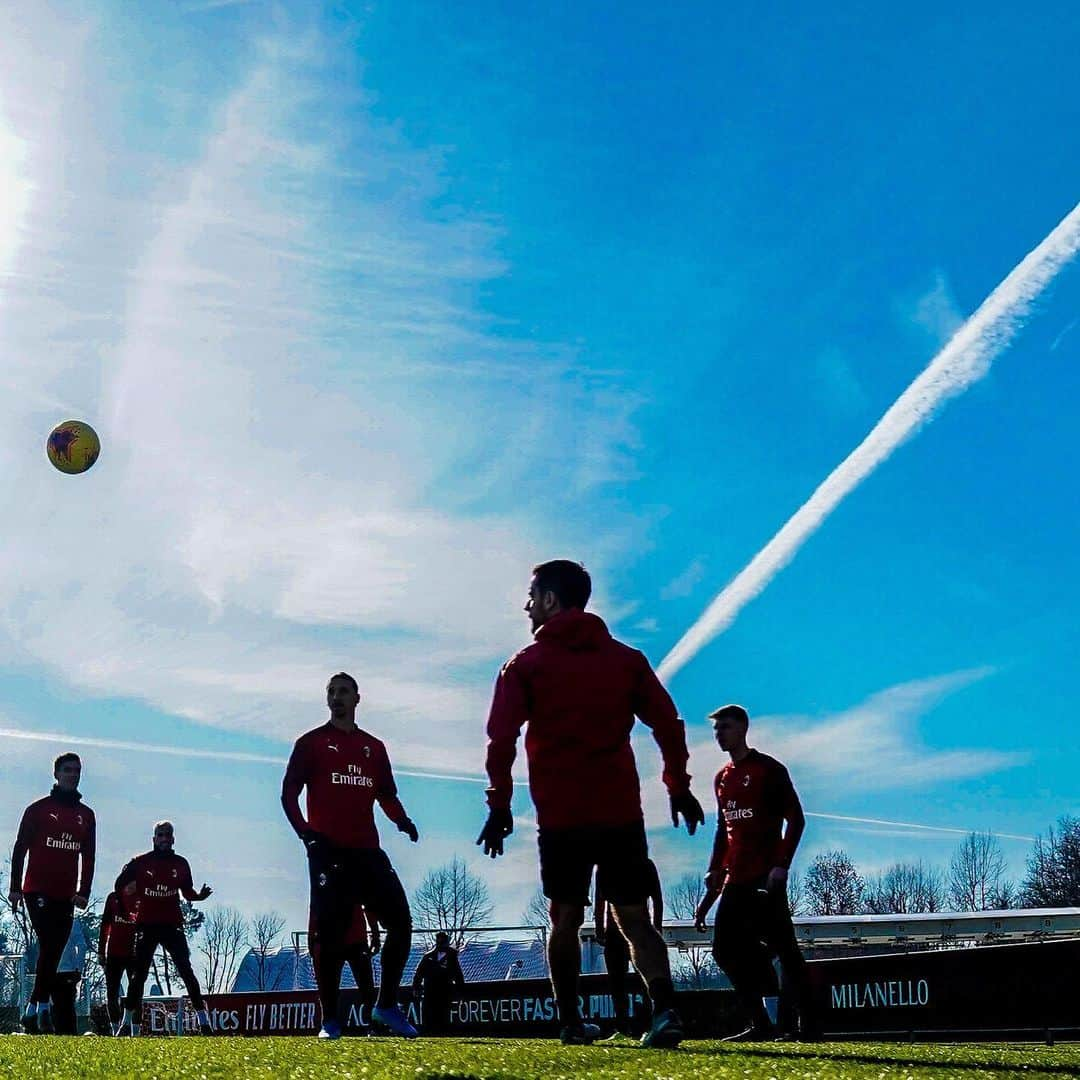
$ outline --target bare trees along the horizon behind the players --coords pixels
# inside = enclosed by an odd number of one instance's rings
[[[3,875],[0,874],[0,892]],[[704,891],[700,874],[685,874],[664,891],[667,917],[692,919]],[[1023,907],[1080,906],[1080,818],[1064,816],[1036,837],[1020,880],[1008,873],[1001,845],[990,833],[969,833],[948,862],[897,861],[874,874],[862,874],[842,849],[821,852],[805,869],[793,869],[788,901],[796,916],[909,915],[933,912],[978,912]],[[245,917],[235,907],[199,909],[183,905],[185,929],[191,940],[197,971],[210,993],[231,989],[244,958],[251,954],[254,989],[279,988],[282,969],[272,963],[284,943],[285,918],[278,912]],[[468,944],[473,931],[490,924],[495,905],[487,883],[464,860],[450,862],[424,875],[413,894],[413,918],[426,930],[445,930],[457,946]],[[97,957],[100,905],[93,902],[77,913],[86,936],[84,978],[91,1000],[104,996],[105,976]],[[521,915],[524,926],[548,922],[548,903],[539,890]],[[0,915],[0,1004],[18,998],[17,963],[29,941],[29,926],[8,910]],[[201,970],[199,968],[201,967]],[[704,985],[714,972],[708,949],[680,950],[674,964],[684,985]],[[150,972],[151,984],[174,991],[176,974],[162,953]]]

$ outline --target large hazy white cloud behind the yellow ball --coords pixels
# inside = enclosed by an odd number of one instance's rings
[[[84,32],[21,28],[0,59],[35,32],[46,71],[71,64],[49,109],[26,105],[32,68],[0,73],[32,187],[0,286],[19,507],[0,643],[82,691],[279,739],[343,667],[364,721],[401,733],[395,762],[475,772],[529,566],[599,569],[634,528],[573,513],[624,469],[634,396],[496,332],[475,293],[504,270],[497,229],[438,207],[438,157],[342,90],[332,41],[264,40],[177,166],[103,144],[71,105]],[[100,180],[125,171],[135,197]],[[84,477],[44,461],[62,415],[103,435]]]

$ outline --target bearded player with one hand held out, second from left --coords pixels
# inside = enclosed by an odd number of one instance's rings
[[[135,971],[127,984],[127,1007],[121,1030],[138,1035],[143,1014],[143,989],[146,986],[153,954],[164,947],[173,958],[177,974],[191,998],[199,1020],[199,1034],[213,1035],[210,1013],[191,969],[191,951],[184,934],[184,913],[180,897],[202,901],[213,893],[208,885],[195,892],[188,861],[176,854],[173,823],[159,821],[153,826],[153,847],[132,859],[120,872],[113,889],[124,897],[129,909],[135,912]]]

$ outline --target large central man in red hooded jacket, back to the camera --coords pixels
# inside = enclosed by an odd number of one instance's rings
[[[548,962],[567,1043],[593,1042],[595,1024],[578,1010],[581,946],[593,869],[630,942],[652,1000],[646,1047],[683,1039],[663,939],[649,921],[649,852],[630,732],[634,717],[652,729],[663,757],[672,821],[692,835],[705,815],[690,793],[686,729],[667,691],[636,649],[617,642],[585,611],[592,582],[566,559],[532,570],[525,611],[535,640],[502,669],[487,721],[489,814],[477,843],[492,859],[513,831],[511,766],[527,724],[525,753],[540,835],[540,877],[551,901]]]

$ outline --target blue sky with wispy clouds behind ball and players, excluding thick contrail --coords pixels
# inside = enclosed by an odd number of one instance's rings
[[[458,852],[516,918],[524,788],[472,840],[531,564],[659,663],[1080,198],[1064,4],[464,6],[0,14],[0,822],[87,740],[102,883],[168,814],[299,924],[276,761],[345,667],[406,883]],[[671,678],[703,799],[738,700],[835,815],[804,862],[977,828],[1018,874],[1080,810],[1080,271],[1014,330]]]

